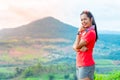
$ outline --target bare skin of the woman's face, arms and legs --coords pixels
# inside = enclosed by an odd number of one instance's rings
[[[92,18],[90,19],[86,14],[82,14],[80,16],[81,18],[81,27],[78,29],[78,31],[84,31],[87,28],[89,28],[90,26],[92,26]],[[73,49],[77,52],[77,51],[87,51],[88,48],[86,47],[87,42],[83,39],[80,39],[80,36],[77,35],[76,36],[76,40],[73,44]],[[80,80],[90,80],[90,78],[86,77],[84,79],[80,79]]]

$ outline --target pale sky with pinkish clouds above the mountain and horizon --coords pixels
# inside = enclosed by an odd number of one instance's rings
[[[0,0],[0,29],[48,16],[79,27],[83,10],[92,12],[98,30],[120,31],[119,0]]]

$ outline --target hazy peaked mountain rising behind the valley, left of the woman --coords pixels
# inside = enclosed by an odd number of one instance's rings
[[[0,38],[65,38],[73,39],[77,28],[53,17],[36,20],[17,28],[0,31]],[[72,37],[73,36],[73,37]]]

